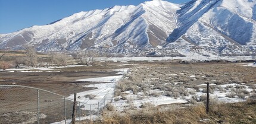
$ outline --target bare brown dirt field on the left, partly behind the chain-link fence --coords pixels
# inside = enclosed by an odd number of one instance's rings
[[[85,78],[107,77],[117,75],[113,69],[129,68],[118,63],[108,66],[77,66],[72,68],[58,68],[52,72],[31,70],[33,72],[0,72],[0,84],[24,85],[48,90],[62,96],[92,90],[93,87],[83,87],[94,82],[76,81]],[[98,83],[98,82],[97,82]],[[52,123],[64,120],[63,97],[41,91],[40,119],[41,123]],[[0,123],[27,122],[36,123],[38,91],[29,88],[5,87],[0,89]],[[73,103],[65,101],[67,118],[71,118]],[[86,112],[82,112],[85,115]],[[46,115],[46,116],[45,116]]]

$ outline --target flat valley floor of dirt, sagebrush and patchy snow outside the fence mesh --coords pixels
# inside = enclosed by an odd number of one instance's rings
[[[120,81],[114,79],[123,75]],[[113,103],[102,111],[99,123],[255,123],[255,102],[249,101],[256,96],[255,77],[256,68],[251,63],[112,61],[107,66],[9,69],[0,72],[0,84],[37,87],[67,97],[76,92],[83,99],[83,93],[114,82]],[[110,82],[104,82],[107,80]],[[203,105],[205,82],[210,82],[209,115]],[[23,95],[33,101],[29,93],[23,91]],[[10,101],[9,106],[14,103]],[[20,104],[18,109],[27,107],[29,104]]]

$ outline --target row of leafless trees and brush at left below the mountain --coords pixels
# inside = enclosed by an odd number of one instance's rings
[[[35,47],[26,46],[23,56],[14,56],[11,62],[4,61],[4,57],[8,54],[8,51],[4,51],[0,54],[0,69],[8,69],[11,66],[20,68],[20,66],[30,67],[49,67],[49,66],[67,66],[74,64],[76,61],[80,65],[93,65],[95,58],[98,56],[93,51],[79,51],[76,53],[76,57],[68,55],[67,53],[49,52],[45,55],[40,55],[36,52]]]

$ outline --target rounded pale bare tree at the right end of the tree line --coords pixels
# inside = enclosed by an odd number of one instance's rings
[[[81,64],[92,65],[95,62],[96,53],[93,51],[80,51],[78,58]]]

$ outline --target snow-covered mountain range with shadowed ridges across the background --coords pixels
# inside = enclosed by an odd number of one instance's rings
[[[97,49],[146,55],[252,55],[256,50],[255,0],[153,0],[137,6],[79,12],[46,26],[0,34],[0,49]]]

